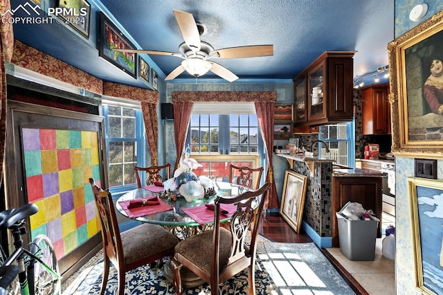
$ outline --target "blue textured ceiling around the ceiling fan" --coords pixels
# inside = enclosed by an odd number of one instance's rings
[[[42,0],[42,3],[46,3]],[[104,80],[147,85],[98,56],[98,10],[129,35],[137,48],[179,52],[183,42],[172,9],[191,12],[215,49],[273,44],[274,55],[215,60],[240,79],[292,79],[324,51],[357,51],[354,77],[388,64],[394,39],[394,0],[90,0],[89,39],[59,24],[15,24],[15,37]],[[12,8],[22,0],[12,0]],[[38,36],[38,37],[36,37]],[[146,60],[164,78],[181,59],[150,55]],[[188,73],[179,78],[194,80]],[[217,78],[207,74],[205,78]]]

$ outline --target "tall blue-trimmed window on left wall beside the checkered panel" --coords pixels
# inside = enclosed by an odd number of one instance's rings
[[[134,166],[144,166],[145,132],[136,105],[103,105],[107,143],[109,187],[136,184]],[[139,157],[138,157],[139,156]]]

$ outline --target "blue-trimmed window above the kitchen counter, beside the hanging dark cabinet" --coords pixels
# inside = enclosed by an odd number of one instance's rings
[[[354,167],[354,122],[320,126],[318,138],[327,143],[330,151],[327,153],[321,147],[318,153],[321,157]]]

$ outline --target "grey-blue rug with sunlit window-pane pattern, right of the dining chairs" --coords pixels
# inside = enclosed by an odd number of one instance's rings
[[[314,242],[265,242],[262,265],[278,294],[355,294]]]

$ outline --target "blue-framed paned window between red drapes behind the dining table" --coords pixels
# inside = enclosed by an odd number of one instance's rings
[[[257,154],[263,148],[257,115],[192,114],[187,145],[193,154]]]

